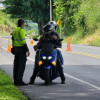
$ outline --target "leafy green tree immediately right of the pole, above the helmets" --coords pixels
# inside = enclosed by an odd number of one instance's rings
[[[77,12],[80,0],[54,0],[55,20],[61,19],[64,36],[75,31],[74,13]]]

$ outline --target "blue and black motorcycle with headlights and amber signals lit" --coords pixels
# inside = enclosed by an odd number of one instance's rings
[[[52,43],[42,44],[42,48],[39,50],[38,76],[45,81],[46,85],[59,77],[56,62],[57,50],[54,49],[54,45]]]

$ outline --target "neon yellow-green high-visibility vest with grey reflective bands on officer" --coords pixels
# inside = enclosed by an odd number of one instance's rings
[[[14,40],[12,40],[12,45],[14,47],[23,46],[26,44],[25,30],[22,27],[17,27],[14,29],[12,36],[14,38]]]

